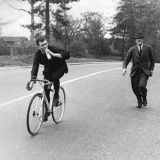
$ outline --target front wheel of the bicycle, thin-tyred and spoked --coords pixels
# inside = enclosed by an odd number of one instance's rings
[[[44,107],[42,104],[42,94],[36,93],[28,106],[27,129],[31,135],[36,135],[42,125]]]

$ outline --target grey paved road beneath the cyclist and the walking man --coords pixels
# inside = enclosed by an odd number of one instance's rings
[[[61,80],[67,93],[63,121],[56,125],[50,118],[34,137],[26,129],[26,111],[39,86],[25,90],[30,68],[0,71],[0,159],[160,159],[159,65],[142,109],[135,107],[129,70],[123,77],[121,63],[70,65]]]

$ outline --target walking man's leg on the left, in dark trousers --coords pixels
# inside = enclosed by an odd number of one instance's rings
[[[142,97],[141,92],[139,88],[139,75],[134,75],[131,77],[131,85],[133,93],[136,95],[137,101],[138,101],[138,108],[142,107]]]

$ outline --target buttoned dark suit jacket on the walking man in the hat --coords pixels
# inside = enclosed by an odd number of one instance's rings
[[[127,52],[125,61],[123,62],[123,68],[127,68],[127,65],[132,60],[132,67],[130,76],[134,76],[139,69],[142,69],[144,73],[151,76],[151,71],[154,69],[154,56],[152,49],[149,45],[143,44],[141,57],[139,56],[138,46],[130,48]]]

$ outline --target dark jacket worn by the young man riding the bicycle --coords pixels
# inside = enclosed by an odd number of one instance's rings
[[[62,69],[64,73],[68,73],[68,67],[65,60],[70,58],[70,53],[54,46],[48,46],[48,49],[55,54],[60,53],[62,58],[51,56],[51,59],[48,59],[46,54],[42,54],[42,52],[38,49],[33,59],[31,77],[37,77],[39,64],[44,65],[44,76],[52,74],[57,69]]]

